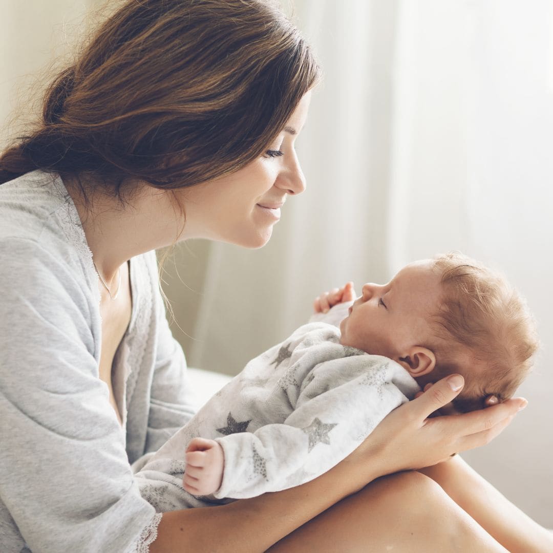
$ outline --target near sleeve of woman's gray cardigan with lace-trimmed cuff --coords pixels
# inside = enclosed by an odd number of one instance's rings
[[[2,503],[32,551],[147,551],[159,515],[98,378],[85,281],[31,240],[0,259]]]

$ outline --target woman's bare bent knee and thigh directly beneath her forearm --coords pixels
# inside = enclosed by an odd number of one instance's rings
[[[368,484],[269,551],[506,553],[507,550],[430,478],[419,472],[402,472]]]

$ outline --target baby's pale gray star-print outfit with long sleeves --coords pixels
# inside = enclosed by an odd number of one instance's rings
[[[316,315],[250,361],[135,476],[158,512],[228,503],[299,486],[337,465],[419,391],[399,363],[339,343],[347,304]],[[319,320],[314,320],[319,319]],[[221,487],[196,497],[182,487],[186,447],[216,440]]]

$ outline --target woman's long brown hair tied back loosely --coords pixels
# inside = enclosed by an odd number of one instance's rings
[[[0,184],[43,169],[121,197],[128,178],[176,189],[233,173],[318,79],[269,0],[126,0],[56,76],[33,132],[0,155]]]

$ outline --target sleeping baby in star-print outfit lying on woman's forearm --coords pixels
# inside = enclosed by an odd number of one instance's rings
[[[461,254],[411,263],[353,298],[351,283],[317,298],[309,324],[249,362],[150,458],[136,476],[158,512],[307,482],[450,373],[465,377],[459,411],[510,398],[538,347],[524,301]]]

